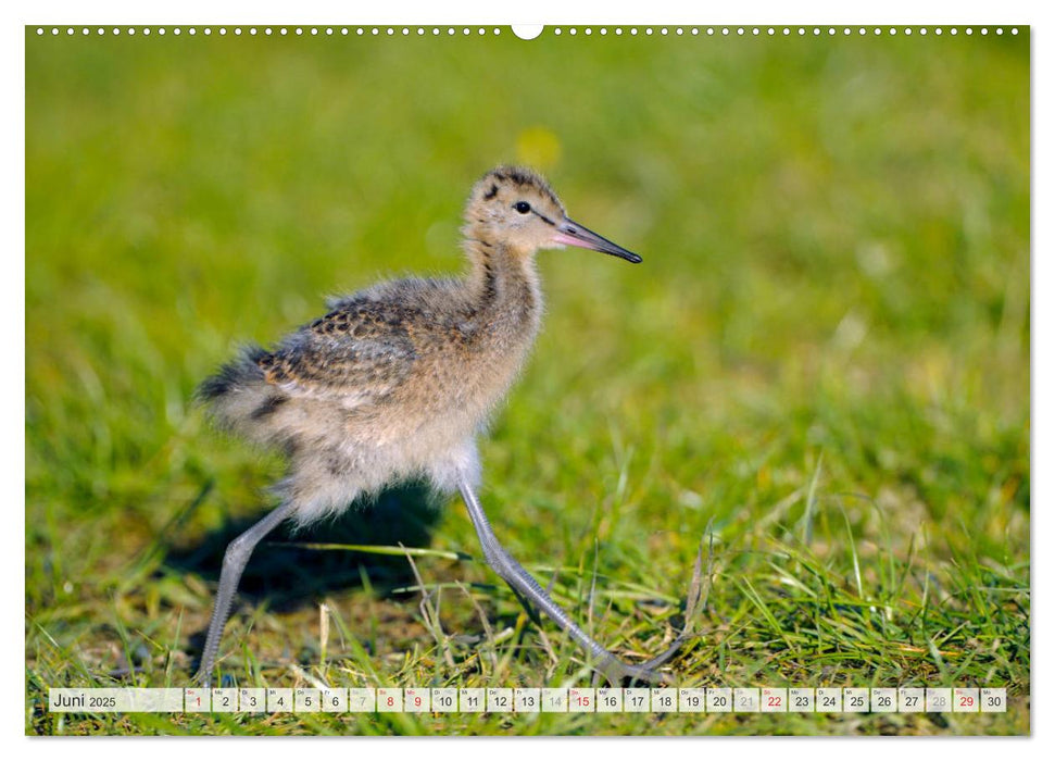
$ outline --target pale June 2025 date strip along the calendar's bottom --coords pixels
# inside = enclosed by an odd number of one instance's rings
[[[48,690],[54,713],[1005,713],[1006,687],[223,687]]]

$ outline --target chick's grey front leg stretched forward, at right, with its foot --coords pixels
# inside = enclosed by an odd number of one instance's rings
[[[462,499],[465,500],[465,507],[468,508],[469,517],[473,520],[473,525],[476,527],[476,535],[479,537],[480,546],[483,548],[483,558],[487,560],[487,564],[494,570],[494,572],[501,576],[506,584],[513,587],[513,590],[530,602],[538,606],[547,615],[549,615],[556,624],[567,632],[568,636],[572,637],[583,650],[590,653],[593,660],[593,668],[601,673],[610,683],[613,685],[621,685],[624,682],[641,682],[654,684],[662,681],[662,677],[654,670],[661,666],[665,661],[677,652],[678,648],[681,647],[681,638],[675,641],[674,646],[667,649],[658,658],[644,663],[642,665],[636,666],[628,663],[624,663],[614,654],[605,650],[601,645],[599,645],[590,635],[583,632],[578,624],[572,621],[572,617],[564,612],[564,610],[554,602],[545,590],[539,586],[539,583],[531,577],[527,571],[524,570],[516,560],[505,548],[499,544],[498,537],[494,536],[494,532],[491,529],[491,524],[487,520],[487,515],[483,513],[483,508],[480,507],[479,500],[476,498],[476,494],[473,490],[472,485],[464,478],[459,482],[459,490],[462,492]]]

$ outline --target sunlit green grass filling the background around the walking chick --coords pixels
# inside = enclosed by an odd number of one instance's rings
[[[26,93],[28,734],[1030,731],[1028,30],[27,32]],[[1006,714],[41,710],[188,685],[223,545],[281,472],[194,385],[323,295],[459,269],[468,186],[510,160],[644,257],[540,258],[543,334],[482,445],[510,550],[642,659],[703,542],[683,686],[1006,686]],[[457,500],[402,490],[275,541],[442,553],[414,560],[426,604],[405,558],[262,547],[235,684],[589,684]]]

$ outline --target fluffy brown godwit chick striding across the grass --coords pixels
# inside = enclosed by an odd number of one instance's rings
[[[527,357],[542,315],[535,253],[581,248],[641,258],[573,222],[542,177],[500,166],[465,209],[468,274],[381,283],[265,350],[251,347],[202,384],[223,427],[285,450],[280,506],[230,542],[199,678],[209,684],[238,579],[256,544],[286,519],[307,524],[362,494],[424,476],[461,491],[488,564],[591,657],[608,681],[654,682],[677,645],[649,663],[619,661],[583,632],[505,551],[476,490],[476,437]]]

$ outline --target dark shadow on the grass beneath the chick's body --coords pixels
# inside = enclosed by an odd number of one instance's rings
[[[413,573],[404,557],[312,550],[285,542],[428,547],[439,508],[428,488],[409,484],[356,502],[338,517],[305,529],[296,531],[287,522],[256,546],[238,585],[238,596],[253,604],[266,601],[271,610],[284,612],[313,604],[330,591],[362,586],[364,573],[381,595],[412,585]],[[265,514],[262,511],[230,521],[194,548],[171,549],[164,565],[169,571],[218,582],[227,545]]]

